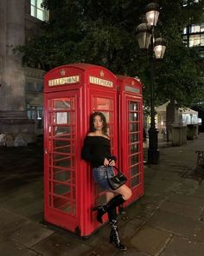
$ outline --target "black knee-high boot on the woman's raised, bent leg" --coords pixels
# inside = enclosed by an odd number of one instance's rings
[[[93,211],[98,211],[97,214],[97,220],[100,223],[103,223],[102,217],[105,213],[107,213],[109,210],[111,211],[112,209],[118,207],[119,205],[124,203],[124,199],[121,194],[116,195],[115,197],[112,198],[105,206],[99,206],[93,208]]]

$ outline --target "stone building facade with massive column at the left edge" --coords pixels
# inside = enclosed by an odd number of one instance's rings
[[[22,56],[13,51],[39,30],[41,20],[31,16],[31,11],[36,9],[37,13],[40,2],[0,1],[0,134],[10,141],[7,146],[12,146],[16,137],[35,141],[35,135],[42,131],[43,116],[37,111],[42,109],[44,71],[22,67]]]

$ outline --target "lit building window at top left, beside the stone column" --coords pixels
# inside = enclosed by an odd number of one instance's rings
[[[30,15],[41,21],[48,21],[48,10],[41,7],[43,0],[30,0]]]

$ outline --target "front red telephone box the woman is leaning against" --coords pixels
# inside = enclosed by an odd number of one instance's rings
[[[100,224],[92,207],[105,204],[105,193],[92,180],[80,158],[93,111],[105,114],[112,153],[118,155],[117,78],[86,63],[52,69],[44,82],[45,220],[80,236]]]

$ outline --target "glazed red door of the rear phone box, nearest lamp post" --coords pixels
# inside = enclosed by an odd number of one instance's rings
[[[127,113],[127,142],[129,185],[132,197],[136,200],[143,195],[143,106],[140,99],[126,98]]]

